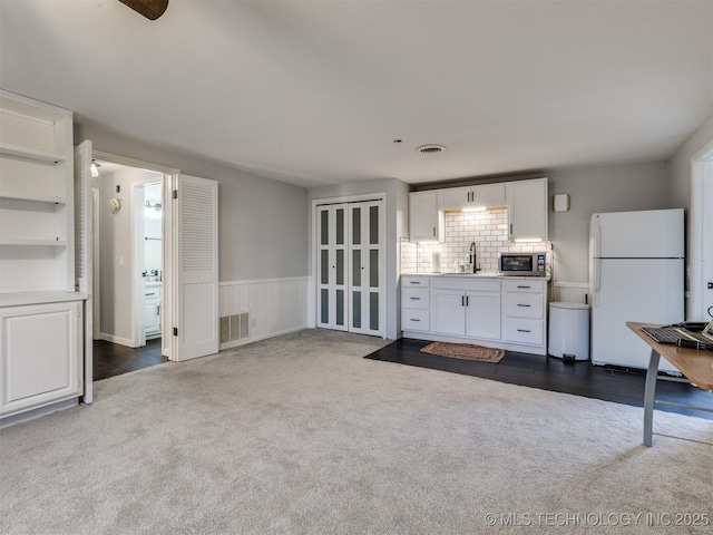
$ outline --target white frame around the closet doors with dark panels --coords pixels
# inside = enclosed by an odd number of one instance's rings
[[[383,217],[380,220],[380,226],[381,228],[379,228],[380,234],[383,236],[384,239],[384,243],[383,243],[383,250],[384,250],[384,254],[381,255],[381,260],[380,262],[382,263],[382,265],[380,266],[380,269],[383,269],[383,271],[381,271],[381,273],[384,273],[384,280],[383,280],[383,299],[380,300],[379,303],[379,315],[382,319],[382,325],[380,329],[381,332],[381,337],[385,339],[387,337],[387,299],[385,299],[385,293],[387,293],[387,281],[385,281],[385,266],[387,266],[387,214],[385,214],[385,210],[387,210],[387,193],[385,192],[378,192],[378,193],[365,193],[365,194],[358,194],[358,195],[342,195],[342,196],[338,196],[338,197],[322,197],[322,198],[313,198],[312,200],[312,214],[311,214],[311,220],[312,220],[312,224],[311,224],[311,236],[312,236],[312,247],[311,247],[311,257],[312,257],[312,274],[309,278],[307,281],[307,295],[310,295],[310,298],[307,299],[307,328],[310,329],[316,329],[318,325],[318,262],[319,262],[319,242],[318,242],[318,206],[324,205],[324,204],[343,204],[343,203],[360,203],[360,202],[365,202],[365,201],[381,201],[383,203]],[[349,307],[348,307],[349,308]],[[349,310],[348,310],[348,319],[350,318],[349,314]]]

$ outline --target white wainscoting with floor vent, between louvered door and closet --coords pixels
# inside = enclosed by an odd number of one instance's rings
[[[219,349],[307,327],[307,278],[221,282]]]

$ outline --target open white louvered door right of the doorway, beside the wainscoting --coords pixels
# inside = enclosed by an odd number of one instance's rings
[[[174,360],[218,351],[218,183],[178,175]]]

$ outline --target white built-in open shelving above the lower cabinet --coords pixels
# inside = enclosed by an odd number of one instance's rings
[[[0,293],[75,289],[72,114],[0,93]]]

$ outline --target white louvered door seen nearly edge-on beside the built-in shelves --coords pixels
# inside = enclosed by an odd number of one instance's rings
[[[84,397],[85,403],[94,399],[94,193],[90,181],[91,142],[75,147],[75,288],[89,295],[84,310]]]

